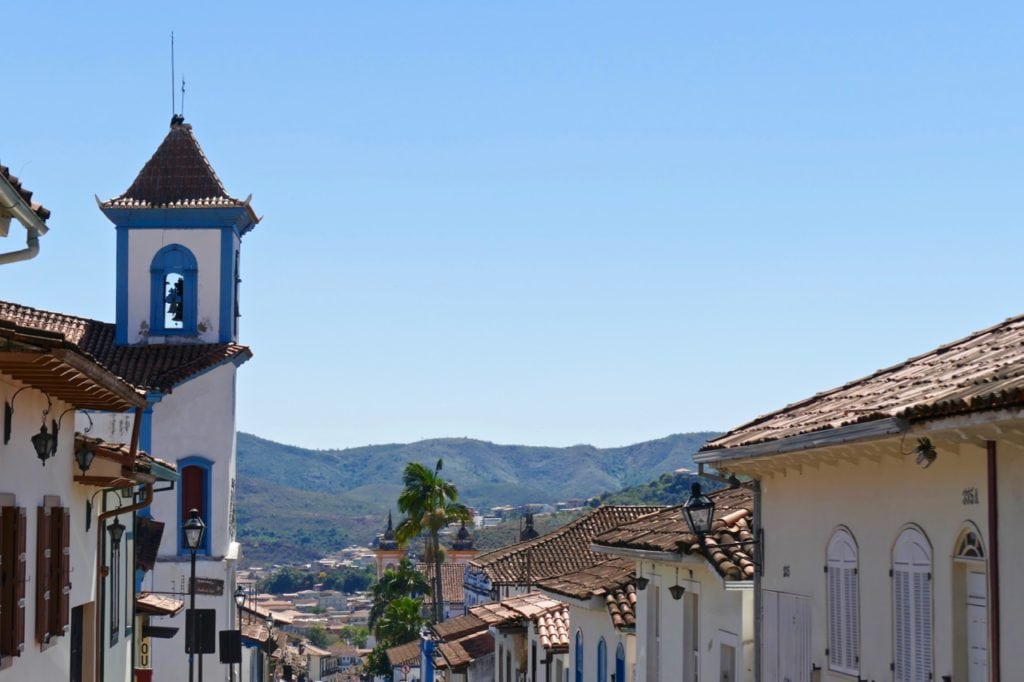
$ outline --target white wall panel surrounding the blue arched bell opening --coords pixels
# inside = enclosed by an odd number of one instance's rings
[[[220,319],[219,229],[129,229],[128,237],[128,343],[145,342],[150,328],[150,265],[158,251],[180,244],[196,256],[199,267],[199,338],[217,341]]]

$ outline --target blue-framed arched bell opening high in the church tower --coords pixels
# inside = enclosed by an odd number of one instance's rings
[[[165,246],[150,265],[150,334],[196,334],[199,268],[180,244]]]

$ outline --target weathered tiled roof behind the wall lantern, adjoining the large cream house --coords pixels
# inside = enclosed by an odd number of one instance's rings
[[[682,506],[669,507],[613,528],[594,539],[594,544],[609,548],[651,550],[700,554],[701,552],[718,572],[729,581],[754,578],[754,534],[751,492],[745,487],[712,493],[715,500],[715,518],[712,532],[703,545],[690,532],[683,518]],[[751,543],[737,547],[722,547],[732,543]],[[549,589],[545,586],[545,589]],[[555,590],[552,590],[555,591]]]

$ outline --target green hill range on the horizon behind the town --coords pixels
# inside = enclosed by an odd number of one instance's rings
[[[470,438],[306,450],[239,433],[238,532],[247,561],[310,561],[383,527],[408,462],[433,466],[471,507],[591,498],[693,466],[712,432],[623,447],[500,445]]]

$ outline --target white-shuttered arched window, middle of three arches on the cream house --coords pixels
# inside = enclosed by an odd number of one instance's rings
[[[895,682],[932,679],[932,547],[910,527],[893,547]]]

